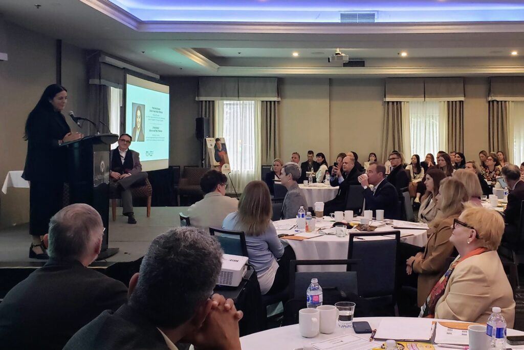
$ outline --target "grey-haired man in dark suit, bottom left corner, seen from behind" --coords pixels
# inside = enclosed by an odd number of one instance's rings
[[[61,349],[102,311],[127,301],[124,283],[90,269],[104,235],[102,218],[72,204],[49,224],[49,261],[10,290],[0,303],[0,348]]]

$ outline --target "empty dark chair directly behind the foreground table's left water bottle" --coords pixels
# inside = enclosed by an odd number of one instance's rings
[[[306,295],[312,278],[319,280],[322,287],[324,305],[332,305],[338,301],[354,301],[358,295],[358,279],[356,271],[312,271],[298,272],[298,266],[315,266],[316,269],[325,266],[340,265],[342,268],[356,266],[361,260],[291,260],[289,265],[289,294],[284,305],[282,325],[298,323],[298,312],[303,309]],[[362,306],[362,305],[361,305]],[[358,306],[357,306],[358,307]]]

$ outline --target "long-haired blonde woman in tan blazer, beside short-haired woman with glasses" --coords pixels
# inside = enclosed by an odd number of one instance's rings
[[[406,273],[418,273],[417,304],[422,306],[428,298],[431,289],[446,271],[446,259],[452,256],[454,247],[449,241],[453,219],[464,209],[464,204],[470,199],[464,185],[454,178],[445,178],[440,183],[439,194],[436,196],[436,207],[439,214],[430,223],[428,243],[424,252],[406,260]]]

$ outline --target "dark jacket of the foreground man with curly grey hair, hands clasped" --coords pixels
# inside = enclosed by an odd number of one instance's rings
[[[128,305],[106,310],[75,334],[64,350],[169,350],[157,327]]]

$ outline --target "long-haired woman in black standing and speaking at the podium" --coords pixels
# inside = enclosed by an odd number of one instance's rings
[[[83,137],[79,132],[71,133],[62,114],[65,103],[67,90],[51,84],[43,91],[26,121],[27,156],[22,177],[30,182],[29,234],[32,242],[29,258],[48,258],[41,239],[49,230],[49,219],[62,208],[67,154],[59,145]]]

